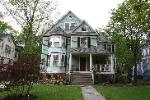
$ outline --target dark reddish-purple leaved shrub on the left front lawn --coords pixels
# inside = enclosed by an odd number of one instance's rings
[[[0,81],[9,82],[4,85],[13,99],[18,95],[30,95],[32,85],[39,76],[39,67],[37,66],[39,61],[35,57],[35,55],[24,55],[14,65],[0,65]],[[29,60],[30,62],[27,62]]]

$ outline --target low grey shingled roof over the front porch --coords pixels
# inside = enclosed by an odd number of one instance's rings
[[[97,47],[91,47],[91,48],[71,48],[70,53],[96,53],[96,54],[109,54],[110,52],[97,48]]]

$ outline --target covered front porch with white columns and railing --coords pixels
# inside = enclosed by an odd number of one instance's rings
[[[113,74],[115,59],[112,54],[70,54],[69,72],[91,72],[92,66],[102,74]]]

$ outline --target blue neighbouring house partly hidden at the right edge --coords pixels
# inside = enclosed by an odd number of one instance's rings
[[[138,75],[143,76],[144,80],[150,79],[150,44],[146,43],[142,47],[142,58],[138,64]]]

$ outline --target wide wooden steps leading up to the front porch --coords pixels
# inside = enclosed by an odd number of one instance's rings
[[[71,74],[71,84],[73,85],[92,85],[92,75],[91,73],[72,73]]]

